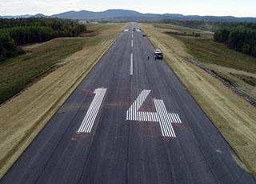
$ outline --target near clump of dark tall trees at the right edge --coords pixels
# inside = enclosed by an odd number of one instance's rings
[[[223,27],[214,33],[214,41],[226,43],[231,49],[250,54],[256,58],[256,27]]]

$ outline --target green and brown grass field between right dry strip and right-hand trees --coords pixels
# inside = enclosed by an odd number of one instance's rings
[[[256,99],[256,86],[253,85],[254,78],[256,78],[256,58],[231,50],[223,43],[214,42],[211,32],[170,24],[154,24],[154,27],[162,33],[170,35],[170,38],[182,41],[186,48],[184,50],[189,54],[187,58],[193,56],[193,59],[213,70],[226,82],[230,82],[238,90],[242,90]],[[185,32],[186,34],[194,32],[201,36],[199,38],[185,36]]]

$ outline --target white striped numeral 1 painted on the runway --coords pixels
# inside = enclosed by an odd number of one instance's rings
[[[106,88],[98,88],[94,90],[94,100],[91,102],[89,109],[86,112],[85,118],[83,118],[82,124],[79,127],[77,133],[90,133],[94,125],[94,121],[97,117],[98,110],[102,105],[103,98],[106,94]]]

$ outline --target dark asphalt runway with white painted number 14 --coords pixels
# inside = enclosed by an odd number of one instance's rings
[[[142,34],[127,26],[0,183],[256,183]]]

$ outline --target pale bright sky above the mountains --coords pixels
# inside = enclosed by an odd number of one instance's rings
[[[256,0],[0,0],[0,15],[58,14],[70,10],[137,10],[156,14],[256,17]]]

